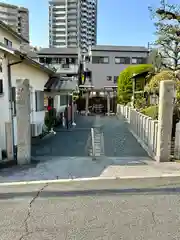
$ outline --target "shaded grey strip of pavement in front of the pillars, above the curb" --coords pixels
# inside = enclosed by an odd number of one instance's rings
[[[40,158],[40,157],[39,157]],[[145,165],[127,159],[104,158],[93,161],[90,157],[42,157],[39,162],[26,166],[14,166],[0,171],[0,182],[38,181],[99,177],[110,166]],[[111,174],[112,170],[111,170]],[[116,174],[116,172],[114,172]]]

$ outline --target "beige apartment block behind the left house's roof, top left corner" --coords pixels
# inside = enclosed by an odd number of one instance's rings
[[[29,40],[29,11],[27,8],[0,2],[0,20]]]

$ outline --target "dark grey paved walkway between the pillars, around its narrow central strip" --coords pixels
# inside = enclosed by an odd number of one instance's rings
[[[79,116],[75,128],[69,131],[57,129],[55,136],[34,144],[32,155],[86,157],[90,129],[95,125],[101,126],[104,133],[105,156],[147,157],[147,153],[128,130],[127,124],[115,116]]]

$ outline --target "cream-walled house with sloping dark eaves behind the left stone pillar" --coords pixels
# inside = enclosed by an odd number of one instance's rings
[[[6,123],[12,128],[10,148],[17,145],[16,122],[16,80],[28,79],[30,83],[31,123],[44,123],[44,86],[54,72],[34,61],[21,51],[24,42],[21,35],[0,21],[0,158],[1,150],[6,150]],[[13,151],[13,150],[12,150]],[[11,152],[12,153],[12,152]]]

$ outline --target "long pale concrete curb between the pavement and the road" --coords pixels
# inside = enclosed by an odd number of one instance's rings
[[[36,185],[36,184],[50,184],[50,183],[59,183],[59,184],[65,184],[65,183],[80,183],[80,182],[95,182],[95,181],[108,181],[108,180],[150,180],[150,179],[168,179],[168,178],[180,178],[180,174],[162,174],[162,175],[156,175],[156,176],[123,176],[123,177],[94,177],[94,178],[75,178],[75,179],[58,179],[58,180],[40,180],[40,181],[24,181],[24,182],[5,182],[0,183],[0,187],[3,186],[23,186],[23,185]]]

